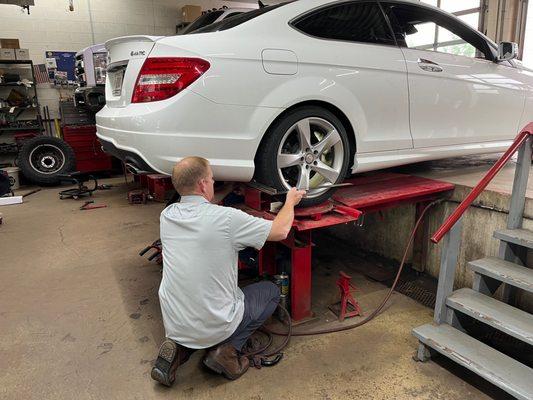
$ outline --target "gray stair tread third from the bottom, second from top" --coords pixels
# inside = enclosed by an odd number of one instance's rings
[[[522,267],[521,265],[504,261],[497,257],[487,257],[470,261],[468,266],[475,273],[497,279],[533,293],[533,269],[531,268]]]

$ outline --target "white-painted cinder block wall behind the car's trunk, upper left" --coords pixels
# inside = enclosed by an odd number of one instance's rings
[[[0,4],[0,38],[18,38],[34,63],[44,63],[47,50],[79,51],[117,36],[174,35],[186,4],[257,8],[253,2],[221,0],[75,0],[69,11],[67,0],[35,0],[28,15]],[[39,102],[52,117],[58,116],[59,98],[69,95],[71,90],[38,86]]]

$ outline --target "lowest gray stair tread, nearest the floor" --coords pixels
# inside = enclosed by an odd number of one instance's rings
[[[533,399],[533,369],[447,324],[413,329],[426,346],[521,400]]]

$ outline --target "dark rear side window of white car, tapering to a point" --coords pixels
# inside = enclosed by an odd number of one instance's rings
[[[292,25],[308,35],[323,39],[396,44],[376,2],[328,6],[298,18]]]

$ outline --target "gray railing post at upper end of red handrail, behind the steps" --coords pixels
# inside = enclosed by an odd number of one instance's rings
[[[524,207],[526,205],[527,181],[529,169],[531,168],[531,145],[533,138],[531,135],[518,149],[518,160],[513,181],[511,201],[509,203],[509,216],[507,218],[507,229],[519,229],[522,227],[524,217]],[[527,256],[525,248],[501,241],[499,256],[501,259],[517,264],[524,264]],[[503,284],[502,301],[513,303],[516,290],[507,284]]]

